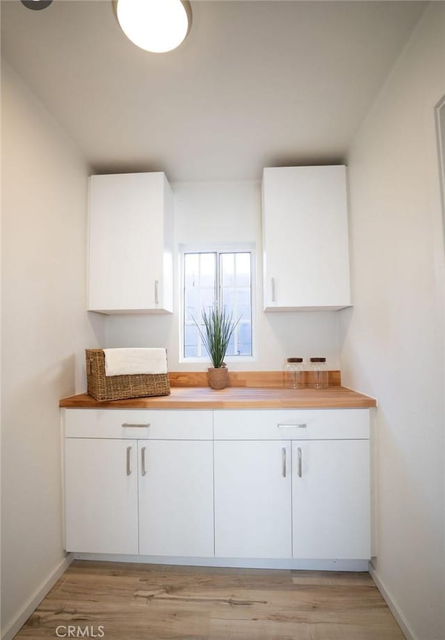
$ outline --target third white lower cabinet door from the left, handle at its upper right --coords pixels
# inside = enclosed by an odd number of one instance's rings
[[[215,442],[215,555],[290,558],[291,443]]]

